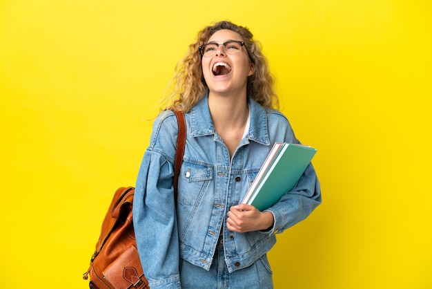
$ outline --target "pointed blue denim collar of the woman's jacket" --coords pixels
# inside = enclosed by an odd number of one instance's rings
[[[248,105],[251,110],[251,124],[248,131],[248,140],[270,145],[267,129],[266,109],[259,105],[255,100],[248,97]],[[190,110],[190,136],[208,136],[215,134],[215,127],[208,108],[208,91],[197,105]]]

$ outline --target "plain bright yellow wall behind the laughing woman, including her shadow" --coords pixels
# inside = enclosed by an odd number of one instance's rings
[[[323,204],[275,288],[432,288],[429,0],[0,1],[0,288],[88,288],[115,189],[204,26],[251,28]],[[148,121],[150,120],[150,121]]]

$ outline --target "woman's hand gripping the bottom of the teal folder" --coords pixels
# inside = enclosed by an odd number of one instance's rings
[[[238,233],[266,230],[275,222],[271,212],[260,212],[253,205],[240,204],[230,207],[226,225]]]

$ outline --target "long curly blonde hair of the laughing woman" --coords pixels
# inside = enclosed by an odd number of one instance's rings
[[[237,32],[244,40],[251,61],[255,64],[254,74],[248,78],[247,95],[264,107],[278,108],[279,100],[275,93],[273,75],[268,69],[261,45],[253,39],[248,28],[237,26],[230,21],[219,21],[198,32],[197,41],[190,44],[188,53],[175,66],[175,74],[168,83],[167,91],[161,100],[161,111],[167,109],[188,112],[204,97],[207,85],[202,73],[199,46],[218,30],[228,29]]]

